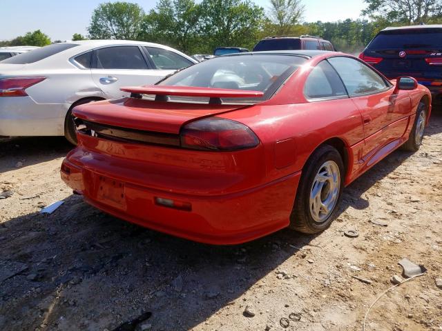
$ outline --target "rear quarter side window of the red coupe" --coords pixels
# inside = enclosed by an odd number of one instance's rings
[[[307,99],[347,97],[343,82],[325,60],[311,70],[305,81],[304,94]]]

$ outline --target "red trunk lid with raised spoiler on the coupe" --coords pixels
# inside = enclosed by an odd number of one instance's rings
[[[262,94],[257,91],[225,90],[215,88],[189,88],[180,86],[152,86],[142,88],[122,88],[133,93],[148,93],[161,96],[198,96],[219,99],[220,97],[247,97]],[[220,100],[220,99],[219,99]],[[148,99],[125,98],[109,101],[97,101],[74,108],[73,115],[84,121],[105,124],[117,128],[180,133],[186,122],[209,117],[224,112],[231,112],[245,107],[247,104],[200,103],[196,101],[155,101]]]

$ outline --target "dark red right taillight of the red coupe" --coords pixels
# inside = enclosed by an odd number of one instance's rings
[[[242,150],[258,143],[249,127],[219,117],[191,122],[181,130],[181,146],[193,150]]]

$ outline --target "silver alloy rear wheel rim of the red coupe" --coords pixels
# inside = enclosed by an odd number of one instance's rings
[[[310,214],[314,221],[322,223],[332,214],[338,202],[340,171],[334,161],[320,166],[310,191]]]

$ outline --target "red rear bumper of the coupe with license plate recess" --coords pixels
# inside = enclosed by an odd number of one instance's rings
[[[204,196],[176,194],[157,190],[141,183],[122,183],[124,199],[104,199],[98,192],[103,178],[117,181],[112,174],[103,174],[65,159],[61,178],[83,194],[90,205],[131,223],[177,237],[230,245],[244,243],[289,225],[300,172],[241,192]],[[191,203],[191,210],[177,210],[155,204],[155,197]]]

